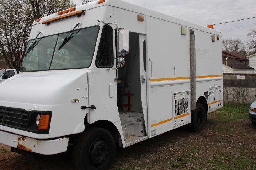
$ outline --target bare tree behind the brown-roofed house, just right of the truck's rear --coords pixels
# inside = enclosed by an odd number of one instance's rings
[[[245,45],[239,38],[237,39],[223,39],[222,40],[222,49],[224,51],[236,52],[244,54],[246,52]]]

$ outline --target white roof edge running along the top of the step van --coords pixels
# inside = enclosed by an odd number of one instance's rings
[[[210,34],[215,34],[215,35],[219,35],[222,36],[220,31],[214,30],[212,28],[208,28],[206,26],[202,26],[193,22],[189,22],[186,21],[184,19],[180,19],[180,18],[176,18],[176,17],[172,17],[154,10],[150,10],[146,7],[142,7],[139,5],[134,5],[134,4],[130,4],[129,2],[125,2],[122,0],[105,0],[105,2],[98,4],[100,0],[97,1],[93,1],[84,5],[80,5],[76,7],[75,11],[79,11],[79,10],[90,10],[92,8],[96,8],[96,7],[100,7],[100,6],[104,6],[104,5],[109,5],[109,6],[113,6],[113,7],[118,7],[124,10],[128,10],[128,11],[132,11],[132,12],[137,12],[138,14],[143,14],[143,15],[148,15],[154,18],[158,18],[158,19],[162,19],[164,21],[169,21],[172,23],[176,23],[176,24],[180,24],[181,26],[185,26],[185,27],[189,27],[192,29],[197,29],[197,30],[201,30],[203,32],[207,32]],[[52,19],[58,17],[58,12],[57,13],[53,13],[51,15],[48,15],[46,17],[41,18],[40,21],[34,21],[33,25],[36,24],[40,24],[43,21],[46,21],[48,19]]]

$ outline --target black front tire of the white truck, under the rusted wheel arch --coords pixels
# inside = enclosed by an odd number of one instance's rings
[[[103,128],[89,128],[75,142],[73,163],[77,170],[108,170],[116,146],[112,134]]]

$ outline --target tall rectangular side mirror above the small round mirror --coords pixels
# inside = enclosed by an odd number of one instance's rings
[[[129,53],[129,31],[127,29],[120,29],[118,31],[118,42],[119,51],[121,55],[126,55]]]

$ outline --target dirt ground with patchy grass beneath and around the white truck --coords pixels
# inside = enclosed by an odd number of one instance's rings
[[[127,148],[117,148],[112,170],[256,170],[256,126],[248,106],[225,104],[209,113],[203,131],[179,128]],[[72,170],[71,154],[26,157],[0,144],[1,170]]]

